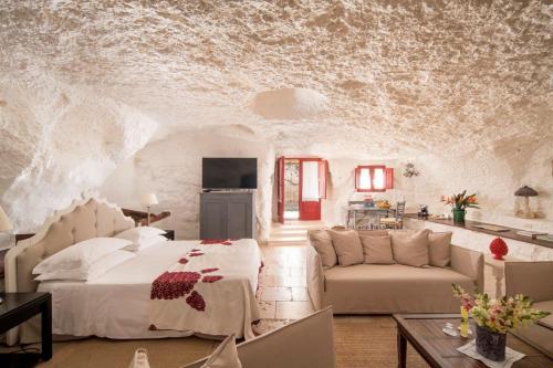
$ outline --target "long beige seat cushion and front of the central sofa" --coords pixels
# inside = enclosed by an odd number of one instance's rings
[[[324,272],[323,306],[347,313],[459,313],[451,284],[473,290],[469,277],[450,269],[403,264],[357,264]]]

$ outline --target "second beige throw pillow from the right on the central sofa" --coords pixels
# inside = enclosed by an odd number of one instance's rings
[[[415,233],[392,232],[392,251],[397,263],[421,267],[428,265],[428,234],[430,230],[425,229]]]

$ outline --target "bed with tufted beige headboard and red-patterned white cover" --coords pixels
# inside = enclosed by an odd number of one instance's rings
[[[132,227],[134,221],[116,206],[94,198],[74,202],[67,210],[54,213],[36,235],[10,250],[7,291],[52,293],[55,335],[121,339],[231,333],[246,339],[254,336],[261,256],[251,239],[225,244],[160,242],[93,281],[33,280],[32,270],[41,260],[76,242],[113,236]],[[184,257],[189,262],[179,262]],[[185,299],[154,297],[156,283],[171,271],[199,275],[192,291],[202,296],[199,306],[188,299],[186,305]],[[23,325],[22,343],[36,340],[35,324]],[[9,341],[14,343],[14,338],[10,334]]]

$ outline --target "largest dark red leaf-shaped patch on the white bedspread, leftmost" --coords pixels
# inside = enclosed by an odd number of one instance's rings
[[[152,283],[152,299],[175,299],[185,296],[201,278],[198,272],[164,272]]]

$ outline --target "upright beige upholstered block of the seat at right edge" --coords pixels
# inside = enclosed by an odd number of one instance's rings
[[[505,262],[505,294],[524,294],[534,302],[553,301],[553,261]],[[538,282],[543,281],[543,282]]]

